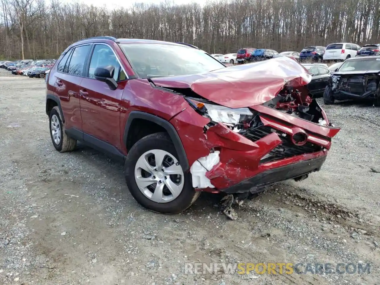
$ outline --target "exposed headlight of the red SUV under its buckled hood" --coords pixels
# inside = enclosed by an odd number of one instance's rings
[[[232,109],[191,99],[188,99],[187,101],[202,116],[207,117],[216,123],[225,123],[232,127],[235,127],[236,125],[247,125],[249,127],[250,122],[252,122],[253,117],[255,116],[248,108]]]

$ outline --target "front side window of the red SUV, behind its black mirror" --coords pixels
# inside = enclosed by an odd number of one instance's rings
[[[97,67],[105,67],[107,65],[112,65],[115,68],[113,77],[116,81],[118,81],[121,67],[115,54],[109,46],[104,44],[96,44],[91,57],[89,78],[95,79],[95,69]]]

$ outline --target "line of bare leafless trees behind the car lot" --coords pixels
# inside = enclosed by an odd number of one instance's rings
[[[57,0],[0,0],[0,59],[53,58],[92,36],[182,41],[209,53],[240,47],[300,51],[380,43],[380,1],[232,0],[107,9]]]

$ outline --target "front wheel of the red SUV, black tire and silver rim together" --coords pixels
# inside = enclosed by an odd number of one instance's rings
[[[194,190],[191,174],[182,171],[167,133],[154,133],[136,142],[128,152],[124,170],[133,198],[153,212],[182,212],[201,193]]]

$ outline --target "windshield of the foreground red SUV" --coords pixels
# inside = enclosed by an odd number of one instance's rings
[[[174,44],[120,44],[139,77],[177,76],[225,68],[199,49]]]

